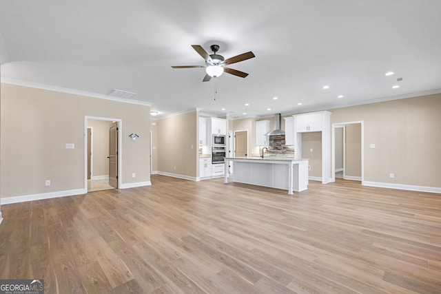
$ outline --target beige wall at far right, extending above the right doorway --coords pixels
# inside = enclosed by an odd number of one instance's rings
[[[365,181],[441,187],[441,94],[329,111],[331,123],[364,121]]]

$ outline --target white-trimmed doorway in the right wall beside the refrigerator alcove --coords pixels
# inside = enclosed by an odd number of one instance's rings
[[[364,122],[332,124],[332,178],[365,180]]]

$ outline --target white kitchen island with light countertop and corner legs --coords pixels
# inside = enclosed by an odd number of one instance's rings
[[[234,162],[233,182],[293,191],[308,189],[308,160],[292,157],[225,157],[225,180],[228,165]]]

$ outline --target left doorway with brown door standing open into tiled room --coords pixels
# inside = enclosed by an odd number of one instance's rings
[[[85,117],[85,191],[121,187],[122,121]]]

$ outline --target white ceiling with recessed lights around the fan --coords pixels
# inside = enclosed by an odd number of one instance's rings
[[[135,92],[160,116],[296,114],[441,92],[440,12],[440,0],[1,0],[1,76]],[[226,59],[254,52],[230,65],[249,76],[172,69],[204,65],[191,45],[213,43]]]

